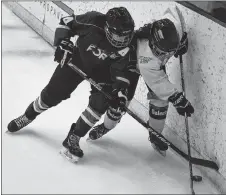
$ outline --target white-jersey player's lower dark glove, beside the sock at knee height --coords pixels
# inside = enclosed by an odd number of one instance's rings
[[[194,113],[194,108],[191,103],[184,97],[183,93],[175,93],[169,97],[169,101],[173,103],[174,107],[177,109],[177,112],[185,116],[185,113],[188,117]]]

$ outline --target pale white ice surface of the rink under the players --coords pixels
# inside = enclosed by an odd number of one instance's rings
[[[170,151],[159,156],[147,131],[128,115],[101,140],[84,138],[77,165],[62,158],[61,143],[88,103],[87,82],[28,127],[6,134],[8,122],[39,95],[56,63],[53,49],[5,7],[2,36],[3,194],[190,193],[188,163]],[[218,193],[205,178],[194,188],[197,194]]]

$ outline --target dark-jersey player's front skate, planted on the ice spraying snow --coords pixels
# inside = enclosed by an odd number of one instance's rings
[[[62,145],[64,146],[63,150],[61,150],[61,155],[66,157],[70,162],[76,163],[80,158],[83,157],[83,151],[79,146],[80,137],[75,135],[76,124],[73,123],[71,125],[70,132],[68,136],[63,141]]]

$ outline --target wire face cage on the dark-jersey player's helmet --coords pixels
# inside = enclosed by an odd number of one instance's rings
[[[119,35],[111,32],[107,26],[105,26],[105,33],[108,41],[111,43],[112,46],[116,48],[127,47],[130,44],[134,35],[134,32]]]

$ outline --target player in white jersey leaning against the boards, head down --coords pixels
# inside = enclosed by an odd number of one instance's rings
[[[187,33],[182,32],[178,20],[168,12],[166,17],[141,27],[137,32],[137,70],[143,77],[149,93],[149,121],[153,129],[162,133],[165,125],[169,102],[173,103],[180,115],[188,117],[194,113],[191,103],[183,92],[172,84],[165,71],[165,64],[172,56],[178,57],[187,52]],[[104,123],[93,128],[89,133],[92,140],[102,137],[114,128],[111,120],[105,116]],[[110,127],[110,128],[109,128]],[[163,156],[168,145],[149,133],[152,146]]]

